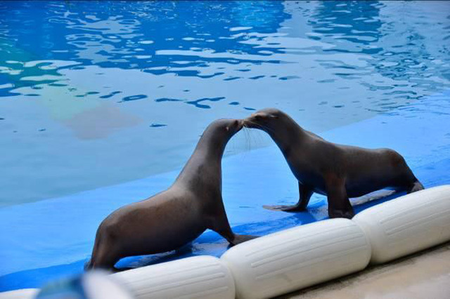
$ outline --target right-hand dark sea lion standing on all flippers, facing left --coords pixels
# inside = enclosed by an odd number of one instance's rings
[[[328,142],[274,108],[255,112],[243,124],[271,136],[298,180],[297,204],[265,208],[304,211],[316,192],[328,197],[330,218],[352,218],[354,211],[349,197],[360,197],[386,187],[408,193],[424,189],[404,158],[394,150],[370,150]]]

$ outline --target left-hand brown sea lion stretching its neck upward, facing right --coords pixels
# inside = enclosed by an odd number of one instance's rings
[[[120,258],[172,251],[208,228],[231,245],[254,238],[232,232],[221,197],[221,158],[242,127],[236,119],[212,122],[169,189],[108,215],[98,227],[85,269],[114,270]]]

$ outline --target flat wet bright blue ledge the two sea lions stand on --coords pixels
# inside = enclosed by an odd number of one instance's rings
[[[433,95],[320,135],[343,144],[390,147],[405,157],[425,187],[449,184],[449,100],[448,92]],[[295,178],[275,145],[226,157],[222,166],[224,204],[237,233],[262,236],[327,218],[326,198],[317,194],[307,212],[262,208],[263,204],[292,203],[298,197]],[[0,209],[0,291],[39,287],[51,279],[82,272],[101,220],[120,206],[165,190],[178,173]],[[352,199],[352,203],[357,213],[399,195],[366,196]],[[224,239],[207,231],[179,251],[126,258],[118,266],[139,267],[191,255],[220,256],[227,248]]]

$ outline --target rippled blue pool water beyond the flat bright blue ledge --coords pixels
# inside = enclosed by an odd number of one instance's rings
[[[278,107],[320,132],[407,109],[449,88],[449,8],[1,2],[0,206],[178,168],[221,117]]]

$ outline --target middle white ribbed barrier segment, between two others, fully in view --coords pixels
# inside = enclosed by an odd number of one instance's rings
[[[363,270],[371,247],[352,220],[331,219],[283,230],[226,251],[238,298],[270,298]]]

